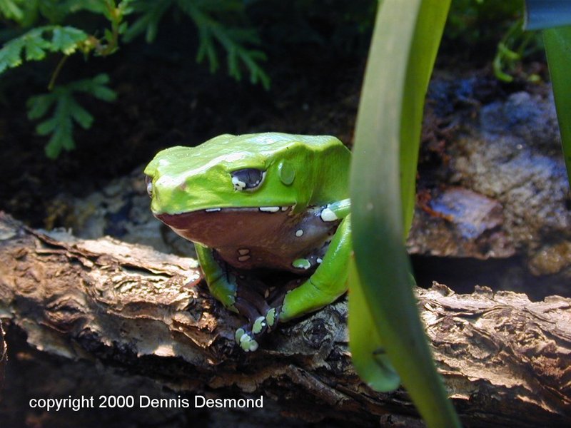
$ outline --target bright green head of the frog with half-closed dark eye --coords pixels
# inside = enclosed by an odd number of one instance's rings
[[[349,157],[330,136],[222,135],[197,147],[167,148],[144,172],[153,214],[196,240],[196,219],[205,213],[218,223],[213,228],[226,220],[212,213],[298,213],[346,198]],[[183,233],[191,222],[193,232]]]

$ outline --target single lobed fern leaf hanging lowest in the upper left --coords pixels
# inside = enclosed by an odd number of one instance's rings
[[[49,111],[52,116],[36,126],[41,136],[51,134],[46,146],[46,156],[55,159],[62,150],[75,148],[73,138],[74,123],[81,128],[89,129],[94,117],[76,100],[75,93],[87,93],[103,101],[114,101],[116,93],[107,86],[109,77],[98,74],[94,78],[74,81],[67,85],[55,86],[53,91],[37,95],[28,100],[28,118],[36,120],[44,118]]]

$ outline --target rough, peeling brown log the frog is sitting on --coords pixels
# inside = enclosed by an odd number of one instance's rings
[[[49,370],[80,364],[75,371],[97,372],[101,383],[120,369],[131,383],[151,379],[179,394],[263,395],[276,414],[313,422],[420,424],[405,392],[373,392],[353,372],[344,300],[282,325],[244,354],[233,343],[242,320],[197,278],[188,258],[110,238],[46,235],[0,213],[0,316],[10,347],[17,330],[36,348],[28,360],[47,353],[56,359]],[[530,302],[487,287],[456,295],[438,284],[417,292],[466,426],[571,424],[571,299]],[[11,363],[23,370],[21,360],[9,360],[8,378]]]

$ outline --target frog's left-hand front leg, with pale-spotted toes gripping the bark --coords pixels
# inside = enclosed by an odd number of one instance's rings
[[[221,267],[211,248],[197,243],[195,248],[211,295],[228,309],[248,318],[248,324],[236,330],[236,342],[246,352],[255,351],[258,349],[255,337],[273,325],[275,310],[268,306],[254,287],[238,287],[236,275]],[[252,282],[253,279],[249,278],[248,281]]]

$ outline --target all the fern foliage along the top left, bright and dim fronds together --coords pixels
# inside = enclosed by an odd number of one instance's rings
[[[259,82],[268,88],[270,79],[259,65],[266,56],[251,47],[258,46],[260,40],[257,32],[246,25],[245,3],[242,0],[0,0],[0,16],[17,24],[0,33],[4,38],[9,36],[0,49],[0,73],[26,61],[43,61],[48,54],[63,55],[48,84],[51,93],[29,100],[30,118],[40,118],[54,107],[54,116],[36,129],[41,135],[51,135],[46,154],[56,157],[62,149],[74,148],[74,123],[84,128],[93,123],[93,116],[79,106],[73,93],[83,92],[106,101],[114,99],[114,93],[107,88],[107,81],[101,81],[101,76],[56,86],[66,58],[77,51],[86,57],[111,55],[121,40],[129,41],[143,31],[151,42],[156,37],[158,23],[169,9],[188,16],[196,25],[198,62],[208,60],[211,71],[216,71],[218,46],[221,46],[226,51],[231,76],[240,80],[246,69],[252,83]],[[96,25],[102,19],[104,24],[92,34],[81,25],[69,25],[71,16],[79,11],[99,18]],[[126,21],[129,14],[135,17],[131,26]],[[74,21],[78,22],[82,21]]]

